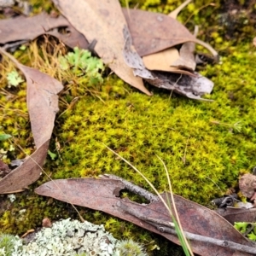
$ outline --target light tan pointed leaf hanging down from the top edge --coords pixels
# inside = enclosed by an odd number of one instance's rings
[[[66,16],[67,20],[89,42],[97,41],[95,47],[97,55],[120,79],[138,90],[142,90],[147,95],[151,95],[144,87],[143,79],[135,77],[131,67],[127,67],[125,64],[122,55],[125,44],[122,31],[126,21],[119,1],[54,0],[53,2],[62,15]]]

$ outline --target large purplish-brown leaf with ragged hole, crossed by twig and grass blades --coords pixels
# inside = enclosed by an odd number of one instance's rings
[[[133,215],[124,212],[118,207],[120,203],[132,211],[139,212],[147,218],[158,218],[170,221],[169,212],[161,201],[153,201],[148,205],[138,204],[129,199],[119,198],[119,191],[127,189],[125,184],[117,179],[96,179],[96,178],[71,178],[53,180],[44,183],[35,192],[38,195],[46,195],[60,201],[66,201],[81,207],[89,207],[97,211],[107,212],[115,217],[125,219],[133,224],[137,224],[143,229],[165,236],[168,240],[179,244],[177,236],[161,233],[153,225],[143,221]],[[166,202],[166,194],[162,194]],[[195,202],[183,199],[174,195],[177,213],[185,231],[208,236],[216,239],[234,241],[253,247],[253,243],[241,235],[229,222],[220,217],[216,212],[202,207]],[[235,252],[228,247],[218,247],[217,245],[203,243],[201,241],[189,241],[195,253],[200,255],[222,255],[222,256],[242,256],[248,253]]]

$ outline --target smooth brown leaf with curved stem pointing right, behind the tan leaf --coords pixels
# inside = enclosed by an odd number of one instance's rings
[[[131,38],[138,55],[150,55],[185,42],[195,42],[206,47],[216,58],[218,53],[209,44],[195,38],[189,30],[168,15],[139,9],[123,9]]]

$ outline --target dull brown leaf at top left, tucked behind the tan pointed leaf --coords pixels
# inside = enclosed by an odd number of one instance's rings
[[[58,32],[59,27],[66,27],[68,33]],[[71,48],[79,46],[87,49],[88,47],[84,36],[76,31],[63,16],[54,18],[42,13],[33,17],[19,16],[14,19],[0,20],[0,44],[33,40],[43,34],[53,35]]]

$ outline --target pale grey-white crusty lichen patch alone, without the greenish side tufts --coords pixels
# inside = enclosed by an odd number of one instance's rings
[[[105,231],[103,225],[95,225],[70,218],[55,222],[51,228],[43,228],[33,241],[22,247],[17,255],[113,255],[117,240]]]

